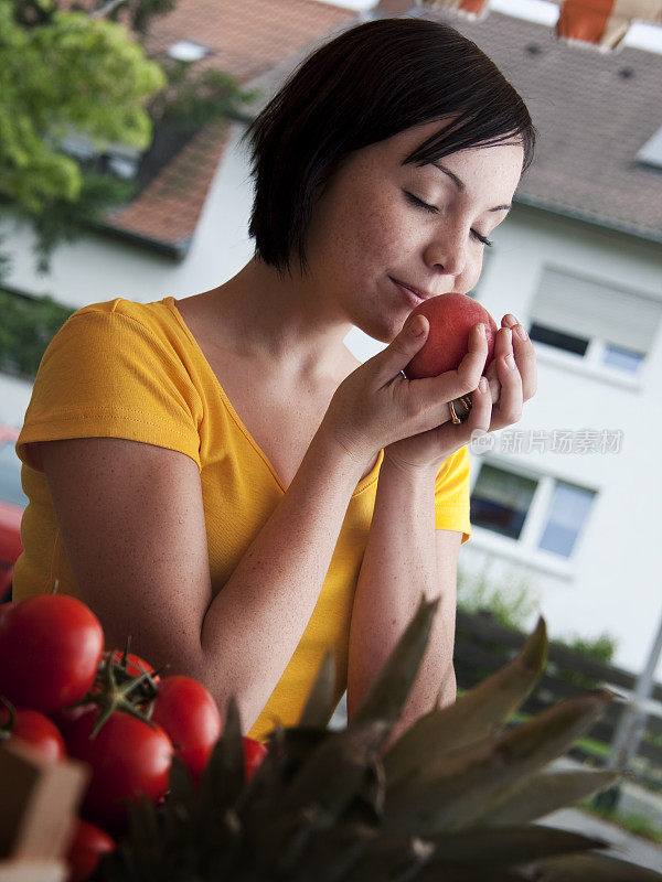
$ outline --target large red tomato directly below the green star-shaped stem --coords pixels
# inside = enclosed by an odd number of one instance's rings
[[[168,789],[174,750],[160,725],[152,729],[122,711],[114,711],[90,739],[98,714],[94,708],[72,722],[65,742],[71,756],[92,767],[81,814],[110,832],[121,832],[128,821],[122,797],[143,793],[157,803]]]

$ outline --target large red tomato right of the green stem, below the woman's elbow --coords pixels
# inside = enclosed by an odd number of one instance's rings
[[[191,677],[164,677],[151,718],[168,732],[193,779],[200,781],[221,735],[221,713],[211,692]]]

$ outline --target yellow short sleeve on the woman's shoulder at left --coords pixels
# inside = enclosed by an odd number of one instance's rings
[[[178,450],[197,467],[200,396],[177,353],[142,322],[100,304],[51,340],[15,450],[43,472],[40,441],[124,438]]]

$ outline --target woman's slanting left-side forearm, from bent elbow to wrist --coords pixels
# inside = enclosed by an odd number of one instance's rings
[[[211,603],[201,676],[248,731],[312,615],[363,466],[320,428],[281,502]]]

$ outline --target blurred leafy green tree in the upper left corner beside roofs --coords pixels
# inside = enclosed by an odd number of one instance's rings
[[[179,115],[183,127],[200,128],[241,117],[237,106],[257,95],[221,72],[195,76],[190,64],[148,58],[127,25],[145,34],[173,7],[110,0],[65,11],[56,0],[0,0],[0,202],[34,228],[40,272],[58,241],[73,240],[138,190],[67,154],[65,137],[85,136],[99,153],[117,143],[145,151],[162,119],[172,126]],[[122,10],[126,24],[117,21]],[[8,269],[0,255],[0,279]]]

